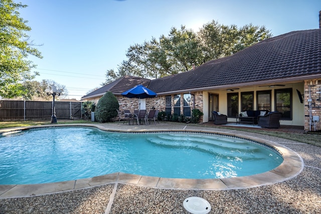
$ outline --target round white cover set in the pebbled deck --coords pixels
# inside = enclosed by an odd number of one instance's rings
[[[211,211],[211,204],[201,197],[188,197],[184,200],[183,206],[193,214],[206,214]]]

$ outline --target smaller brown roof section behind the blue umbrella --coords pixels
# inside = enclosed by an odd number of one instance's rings
[[[93,98],[97,96],[104,95],[107,91],[111,91],[113,94],[118,95],[121,94],[124,91],[127,91],[128,89],[131,89],[135,87],[136,85],[143,85],[146,88],[148,88],[150,80],[140,77],[134,77],[134,76],[123,76],[107,85],[104,85],[103,87],[85,95],[82,97],[82,99],[88,99]]]

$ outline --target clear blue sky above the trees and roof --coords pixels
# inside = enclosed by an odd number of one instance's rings
[[[37,81],[65,85],[80,100],[101,87],[109,69],[126,60],[130,45],[168,35],[172,27],[198,31],[215,20],[242,27],[265,26],[273,36],[318,28],[319,0],[18,0],[20,15],[43,59],[30,57]],[[67,97],[68,98],[68,97]]]

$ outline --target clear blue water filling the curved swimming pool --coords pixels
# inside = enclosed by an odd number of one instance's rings
[[[0,137],[0,184],[47,183],[114,172],[223,178],[262,173],[282,161],[261,145],[214,134],[128,134],[71,127]]]

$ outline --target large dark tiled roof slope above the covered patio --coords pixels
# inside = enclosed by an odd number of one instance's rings
[[[284,83],[308,76],[321,77],[321,29],[294,31],[261,41],[194,70],[151,80],[148,88],[171,93]]]

